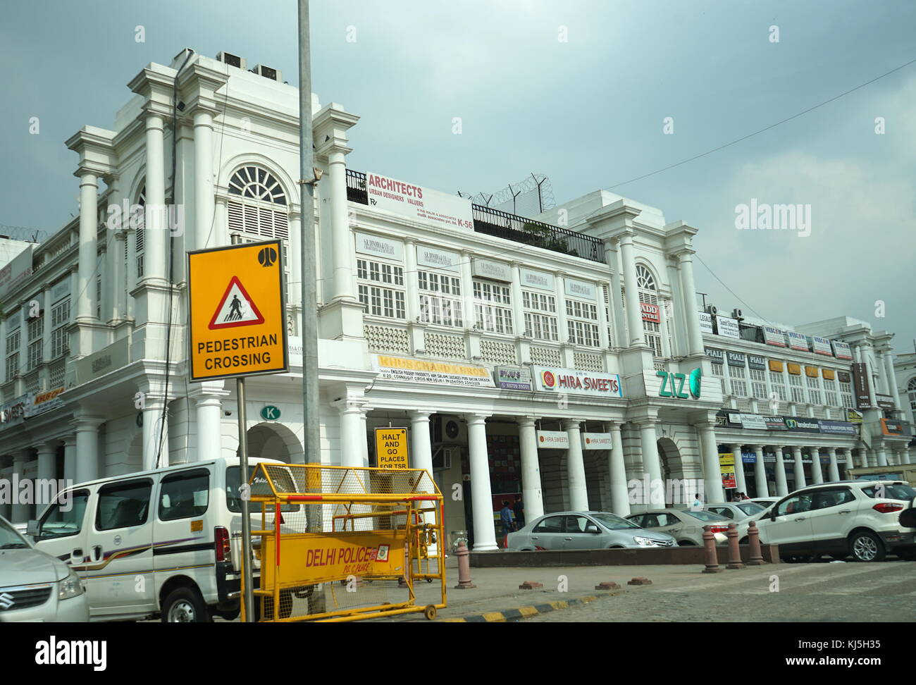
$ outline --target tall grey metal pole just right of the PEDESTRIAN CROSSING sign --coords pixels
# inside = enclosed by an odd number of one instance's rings
[[[299,0],[299,185],[302,212],[302,428],[304,462],[322,462],[318,415],[318,299],[315,292],[315,179],[311,135],[311,41],[309,0]],[[322,531],[322,506],[306,510],[306,530]],[[320,585],[309,598],[309,613],[324,611]]]

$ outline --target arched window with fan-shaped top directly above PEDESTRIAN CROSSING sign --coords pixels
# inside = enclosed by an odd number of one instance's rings
[[[229,179],[229,234],[233,245],[278,238],[283,264],[289,272],[289,210],[287,194],[265,169],[242,167]]]

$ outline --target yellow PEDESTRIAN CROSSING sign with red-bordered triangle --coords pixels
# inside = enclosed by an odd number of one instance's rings
[[[191,381],[289,371],[278,240],[188,253]]]

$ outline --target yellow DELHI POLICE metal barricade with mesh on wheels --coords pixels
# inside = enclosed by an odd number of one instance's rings
[[[427,471],[258,463],[249,484],[257,621],[433,619],[445,606],[442,493]]]

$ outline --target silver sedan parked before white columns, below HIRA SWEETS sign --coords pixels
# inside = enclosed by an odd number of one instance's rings
[[[638,549],[674,547],[665,533],[642,530],[604,511],[564,511],[539,516],[507,535],[506,549]]]

